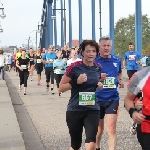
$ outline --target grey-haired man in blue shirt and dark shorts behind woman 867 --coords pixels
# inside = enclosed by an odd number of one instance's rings
[[[119,107],[120,88],[124,87],[121,61],[118,57],[111,55],[112,41],[109,37],[101,37],[99,40],[100,54],[95,62],[102,65],[102,72],[107,74],[106,80],[103,82],[103,89],[96,90],[96,98],[100,106],[100,121],[98,133],[96,137],[96,150],[100,150],[100,141],[104,130],[104,117],[106,115],[106,127],[108,132],[109,150],[116,149],[117,135],[116,122]]]

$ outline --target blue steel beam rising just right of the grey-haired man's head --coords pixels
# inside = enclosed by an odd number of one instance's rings
[[[114,54],[114,0],[109,0],[109,35],[112,40],[111,54]]]

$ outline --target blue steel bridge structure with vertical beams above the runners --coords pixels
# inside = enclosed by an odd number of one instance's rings
[[[54,45],[55,48],[58,48],[57,44],[57,16],[56,11],[60,10],[61,19],[58,20],[61,24],[61,47],[63,47],[66,42],[66,34],[69,34],[69,47],[72,47],[72,0],[68,0],[68,7],[66,7],[66,1],[67,0],[43,0],[43,6],[42,6],[42,15],[41,15],[41,33],[40,33],[40,47],[41,48],[47,48],[49,45]],[[99,13],[100,13],[100,30],[101,30],[101,0],[99,1]],[[113,41],[112,45],[112,53],[114,54],[114,1],[115,0],[109,0],[109,36]],[[91,0],[91,16],[92,16],[92,35],[91,39],[96,40],[96,29],[95,29],[95,8],[97,7],[95,5],[96,0]],[[57,3],[60,3],[60,8],[57,8]],[[79,43],[82,42],[82,0],[78,0],[78,11],[79,11]],[[69,13],[69,33],[66,33],[66,11]],[[86,10],[84,11],[86,12]],[[101,36],[101,34],[100,34]],[[139,51],[140,54],[142,54],[142,11],[141,11],[141,0],[135,0],[135,49]]]

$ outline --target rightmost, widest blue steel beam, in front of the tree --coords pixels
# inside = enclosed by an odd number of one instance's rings
[[[142,10],[141,0],[135,0],[135,48],[142,56]]]

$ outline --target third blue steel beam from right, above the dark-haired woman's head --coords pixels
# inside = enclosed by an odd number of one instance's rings
[[[91,0],[92,3],[92,39],[95,40],[95,0]]]

